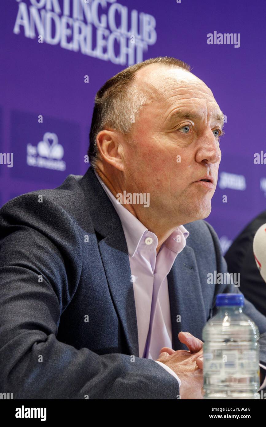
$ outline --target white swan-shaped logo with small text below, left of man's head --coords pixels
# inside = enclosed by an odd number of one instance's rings
[[[37,146],[27,144],[28,166],[64,171],[66,164],[62,160],[63,156],[64,148],[58,143],[58,137],[53,132],[45,132],[43,140],[39,141]]]

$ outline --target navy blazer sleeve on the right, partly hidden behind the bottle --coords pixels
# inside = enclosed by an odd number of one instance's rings
[[[218,272],[221,272],[222,274],[227,273],[228,272],[227,264],[224,257],[222,256],[222,250],[221,250],[218,236],[214,231],[213,227],[208,222],[206,222],[206,224],[212,235],[213,244],[216,251],[217,274]],[[214,316],[214,314],[216,313],[215,304],[216,304],[216,295],[218,293],[226,293],[226,292],[242,293],[240,290],[241,290],[241,277],[240,277],[240,286],[238,284],[237,286],[235,286],[235,284],[216,284],[215,293],[213,297],[212,315]],[[251,304],[251,302],[248,301],[246,298],[244,298],[244,301],[245,301],[245,306],[243,308],[243,312],[246,314],[246,316],[248,316],[251,320],[255,322],[255,324],[257,325],[260,331],[260,339],[259,339],[260,363],[265,365],[266,364],[266,317],[263,316],[263,314],[260,313],[260,311],[258,311],[254,307],[254,305]]]

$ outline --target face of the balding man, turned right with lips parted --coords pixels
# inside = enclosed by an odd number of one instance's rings
[[[136,82],[152,95],[124,145],[127,191],[149,193],[149,209],[170,222],[206,218],[221,160],[222,112],[212,92],[193,74],[158,64],[139,70]],[[199,181],[208,177],[213,184]]]

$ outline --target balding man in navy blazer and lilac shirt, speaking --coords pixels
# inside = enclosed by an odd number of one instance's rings
[[[202,398],[202,328],[216,294],[238,292],[207,284],[209,272],[226,272],[202,221],[221,134],[212,92],[175,58],[136,64],[98,91],[92,168],[0,213],[5,392]],[[245,312],[263,344],[266,318],[248,301]]]

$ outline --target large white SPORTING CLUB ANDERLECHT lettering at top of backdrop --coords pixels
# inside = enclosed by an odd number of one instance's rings
[[[16,1],[15,34],[114,64],[143,61],[143,51],[157,40],[152,15],[116,0]]]

